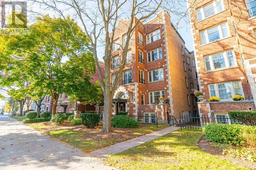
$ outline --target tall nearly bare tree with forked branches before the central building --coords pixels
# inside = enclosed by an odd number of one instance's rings
[[[104,115],[102,132],[109,132],[111,130],[111,107],[112,98],[116,90],[117,84],[122,76],[122,70],[125,65],[129,41],[135,29],[143,22],[156,14],[160,9],[164,9],[176,16],[183,17],[185,12],[178,12],[182,1],[174,0],[144,0],[144,1],[127,1],[127,0],[113,0],[113,1],[79,1],[79,0],[60,0],[60,1],[46,1],[33,0],[45,6],[47,10],[53,10],[61,17],[65,18],[66,11],[74,12],[74,17],[81,22],[84,32],[87,34],[90,44],[88,48],[93,52],[94,60],[97,70],[99,72],[99,82],[103,90],[104,96]],[[185,3],[184,1],[183,3]],[[93,8],[92,8],[93,7]],[[121,17],[130,17],[127,24],[126,41],[124,45],[118,44],[123,53],[119,56],[122,61],[119,70],[115,76],[113,86],[111,86],[111,57],[118,20]],[[72,26],[70,29],[73,30]],[[74,35],[74,34],[73,34]],[[75,36],[75,35],[74,35]],[[105,64],[105,75],[102,74],[98,63],[98,46],[103,48],[103,60]],[[104,78],[105,76],[105,78]]]

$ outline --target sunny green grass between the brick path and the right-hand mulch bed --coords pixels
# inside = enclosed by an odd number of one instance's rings
[[[201,131],[178,130],[105,160],[120,169],[246,169],[202,151]]]

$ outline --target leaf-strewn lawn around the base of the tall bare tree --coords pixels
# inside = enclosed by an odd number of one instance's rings
[[[144,126],[137,129],[113,128],[110,134],[100,134],[101,127],[90,129],[79,127],[76,130],[57,130],[48,132],[47,134],[83,152],[91,152],[163,128],[166,128],[166,125],[158,126],[158,128],[156,126]]]

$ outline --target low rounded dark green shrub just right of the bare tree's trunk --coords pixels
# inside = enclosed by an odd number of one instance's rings
[[[117,115],[112,117],[112,126],[114,128],[138,128],[139,122],[125,115]]]

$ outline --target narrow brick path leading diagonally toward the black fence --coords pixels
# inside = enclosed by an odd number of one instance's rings
[[[96,151],[93,151],[90,153],[90,155],[94,156],[94,157],[98,157],[98,158],[105,158],[105,157],[109,157],[111,155],[115,155],[117,153],[126,151],[128,149],[137,147],[140,144],[143,144],[147,141],[151,141],[153,139],[156,139],[160,136],[163,136],[165,134],[168,134],[170,132],[173,132],[177,129],[180,129],[179,127],[168,127],[162,130],[159,130],[157,132],[153,132],[144,136],[140,136],[140,137],[136,137],[130,140],[126,140],[120,143],[116,143],[111,145],[110,147],[106,147],[103,149],[99,149]]]

